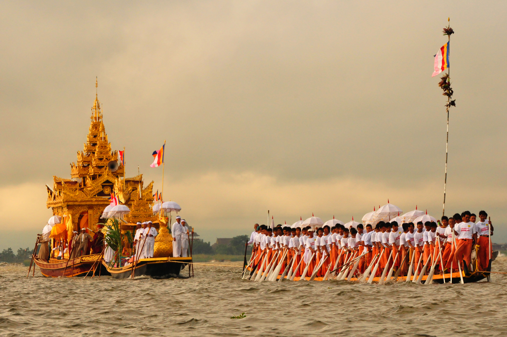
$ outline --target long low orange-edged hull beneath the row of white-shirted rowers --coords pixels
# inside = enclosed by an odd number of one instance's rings
[[[248,271],[250,271],[250,274],[251,274],[251,267],[248,267]],[[461,271],[461,276],[463,277],[463,283],[474,283],[474,282],[479,282],[479,281],[487,278],[490,275],[489,272],[491,272],[491,261],[489,262],[489,265],[488,265],[488,268],[486,271],[475,271],[475,272],[470,273],[465,270],[465,271]],[[258,274],[258,272],[256,271],[250,279],[255,278],[255,275],[257,275],[257,274]],[[446,283],[449,283],[451,281],[451,274],[450,273],[447,273],[444,275],[437,274],[437,275],[433,276],[433,283],[443,284],[444,277],[445,277]],[[286,279],[286,278],[287,277],[285,276],[284,279]],[[421,279],[421,283],[425,283],[427,278],[428,278],[428,276],[424,275]],[[278,275],[277,279],[280,280],[280,275]],[[294,281],[299,281],[300,279],[301,279],[301,277],[295,277]],[[412,279],[413,279],[413,276],[410,278],[410,280],[412,280]],[[305,280],[310,281],[310,277],[305,277]],[[314,281],[323,281],[323,277],[316,277],[314,279]],[[378,283],[379,281],[380,281],[380,277],[374,277],[372,282]],[[391,279],[389,282],[393,283],[393,282],[405,282],[405,281],[407,281],[406,276],[399,276],[396,280]],[[357,278],[353,277],[350,279],[349,282],[358,282],[358,280],[357,280]],[[461,278],[460,278],[459,272],[452,273],[452,283],[461,283]]]

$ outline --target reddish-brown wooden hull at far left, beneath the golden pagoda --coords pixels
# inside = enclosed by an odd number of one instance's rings
[[[92,254],[75,257],[74,259],[70,259],[68,264],[67,259],[58,260],[55,258],[50,258],[48,262],[47,260],[41,260],[36,257],[34,262],[41,269],[42,275],[46,277],[79,277],[85,276],[88,272],[88,276],[99,275],[99,273],[104,276],[110,275],[106,268],[102,267],[99,262],[96,262],[100,259],[100,255],[101,254]],[[95,266],[93,266],[93,264],[95,264]]]

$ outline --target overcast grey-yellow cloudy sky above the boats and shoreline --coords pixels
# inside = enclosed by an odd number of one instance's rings
[[[387,199],[442,214],[445,96],[433,55],[451,17],[447,214],[503,229],[504,2],[2,2],[0,249],[33,246],[45,184],[70,178],[95,98],[127,176],[206,241],[253,223],[359,220]],[[439,9],[439,10],[437,10]],[[440,10],[441,9],[441,10]]]

